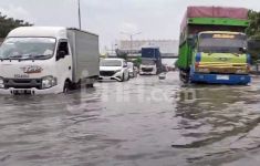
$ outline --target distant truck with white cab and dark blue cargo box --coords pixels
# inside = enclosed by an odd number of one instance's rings
[[[162,58],[159,48],[142,48],[141,75],[156,75],[162,72]]]

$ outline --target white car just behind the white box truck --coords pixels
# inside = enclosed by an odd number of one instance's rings
[[[100,81],[102,80],[128,81],[129,71],[126,61],[123,59],[102,59],[100,62]]]

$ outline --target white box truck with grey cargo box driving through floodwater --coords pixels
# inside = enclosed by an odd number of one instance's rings
[[[12,30],[0,48],[1,94],[56,94],[100,75],[98,35],[60,27]]]

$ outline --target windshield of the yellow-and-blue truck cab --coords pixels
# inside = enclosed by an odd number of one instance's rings
[[[247,38],[243,34],[200,34],[198,51],[205,53],[242,53],[247,48]]]

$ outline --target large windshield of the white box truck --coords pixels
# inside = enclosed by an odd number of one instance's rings
[[[1,59],[45,60],[53,56],[53,38],[8,38],[0,48]]]

